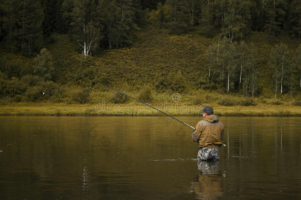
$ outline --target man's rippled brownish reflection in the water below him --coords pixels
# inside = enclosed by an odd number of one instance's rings
[[[218,171],[219,161],[197,161],[198,177],[192,182],[197,199],[212,200],[222,197],[222,172]]]

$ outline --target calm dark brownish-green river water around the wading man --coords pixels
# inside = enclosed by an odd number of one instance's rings
[[[221,160],[198,166],[168,117],[0,117],[0,199],[301,199],[301,118],[220,120]]]

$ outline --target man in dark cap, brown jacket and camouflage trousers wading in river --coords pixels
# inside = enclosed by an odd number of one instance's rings
[[[192,140],[198,142],[198,160],[217,161],[220,160],[219,148],[223,145],[224,125],[216,115],[213,108],[205,106],[200,112],[203,120],[200,120],[193,130]]]

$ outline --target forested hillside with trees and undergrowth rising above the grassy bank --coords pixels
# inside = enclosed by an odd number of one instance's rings
[[[300,98],[300,34],[301,0],[2,0],[0,98],[85,103],[97,82]]]

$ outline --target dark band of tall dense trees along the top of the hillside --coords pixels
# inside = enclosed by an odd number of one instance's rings
[[[252,31],[300,40],[300,0],[2,0],[0,43],[23,55],[69,34],[84,55],[131,45],[148,24],[183,34],[220,34],[230,43]]]

